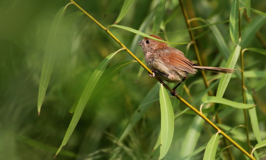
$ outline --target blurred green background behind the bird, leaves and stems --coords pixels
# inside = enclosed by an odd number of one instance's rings
[[[121,0],[76,1],[105,27],[115,22],[123,2]],[[82,14],[76,6],[69,5],[57,37],[58,45],[53,72],[38,116],[38,89],[47,37],[53,18],[67,3],[69,1],[62,0],[0,1],[0,159],[52,159],[71,121],[70,108],[80,98],[88,79],[98,64],[107,55],[120,49],[117,42],[105,31]],[[119,25],[138,30],[145,22],[145,18],[156,10],[158,3],[158,0],[135,0]],[[212,22],[220,22],[229,19],[232,1],[184,0],[184,3],[190,18],[201,17],[210,19]],[[265,6],[265,0],[251,1],[251,7],[263,13],[266,12]],[[240,3],[240,7],[244,7],[244,4]],[[73,15],[75,12],[80,14]],[[262,24],[261,27],[252,31],[251,37],[246,38],[243,48],[265,49],[266,17],[251,12],[251,19],[248,22],[245,18],[246,10],[242,9],[241,13],[243,30],[259,20]],[[191,25],[197,27],[205,24],[193,21]],[[152,26],[153,18],[142,31],[152,34]],[[217,27],[227,46],[232,50],[234,45],[230,38],[229,23],[222,23]],[[169,42],[189,42],[188,31],[168,33],[186,29],[178,2],[167,1],[160,30],[165,30],[165,33],[159,35]],[[131,48],[138,58],[143,59],[141,48],[134,46],[143,37],[139,36],[136,41],[132,41],[135,34],[131,32],[117,28],[110,28],[110,31],[125,46]],[[213,67],[223,66],[225,62],[222,61],[221,51],[219,51],[209,27],[193,30],[193,32],[196,37],[200,35],[196,39],[196,43],[203,64]],[[202,33],[204,34],[202,35]],[[171,44],[170,46],[178,48],[186,53],[189,59],[196,61],[193,47],[186,52],[188,45]],[[109,66],[124,60],[133,59],[125,51],[120,51]],[[244,66],[245,70],[249,71],[265,71],[265,55],[246,51]],[[138,77],[139,69],[138,63],[131,63],[117,74],[104,90],[97,94],[92,93],[68,143],[55,159],[158,158],[159,151],[152,152],[152,149],[160,131],[159,101],[153,103],[151,109],[137,123],[121,145],[114,145],[114,141],[122,134],[133,112],[138,109],[151,88],[158,83],[154,78],[149,77],[147,71]],[[211,75],[213,73],[207,73],[208,77]],[[198,83],[192,85],[196,80]],[[265,75],[264,77],[257,75],[248,80],[256,91],[254,100],[257,104],[261,136],[262,139],[265,139]],[[206,89],[200,72],[186,80],[185,83],[192,98]],[[212,90],[214,94],[216,89],[217,86]],[[191,102],[187,93],[184,93],[182,97]],[[231,79],[224,98],[242,102],[242,86],[239,79]],[[184,104],[178,105],[177,100],[171,100],[175,113],[186,108]],[[197,103],[196,106],[199,108],[200,103]],[[244,125],[243,110],[222,107],[219,115],[225,125],[230,127]],[[169,159],[178,159],[186,131],[195,116],[197,117],[192,112],[188,112],[176,119],[172,146],[167,154]],[[212,118],[211,111],[208,118]],[[238,134],[230,134],[230,136],[233,139],[236,138],[236,141],[247,149],[245,129],[239,128],[237,131],[239,131]],[[255,145],[256,140],[251,127],[250,132],[251,144]],[[215,130],[205,124],[196,149],[207,143],[210,134],[214,133],[216,133]],[[235,157],[240,159],[244,157],[237,149],[231,148]],[[203,153],[204,150],[192,159],[202,159]]]

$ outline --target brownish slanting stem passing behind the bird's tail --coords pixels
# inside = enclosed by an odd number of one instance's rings
[[[179,0],[179,4],[181,6],[181,9],[182,9],[185,21],[186,21],[186,25],[187,25],[188,29],[191,29],[190,20],[188,19],[188,15],[187,15],[187,13],[185,11],[185,7],[184,7],[184,4],[183,4],[183,1]],[[195,42],[195,38],[194,38],[194,35],[192,33],[192,30],[189,30],[189,35],[190,35],[191,40],[193,42]],[[196,53],[196,57],[197,57],[198,63],[199,63],[200,66],[203,66],[202,62],[201,62],[200,54],[199,54],[199,51],[198,51],[197,43],[196,42],[193,43],[193,46],[194,46],[194,50],[195,50],[195,53]],[[202,78],[203,78],[204,84],[205,84],[206,88],[208,88],[209,87],[209,83],[207,81],[205,71],[201,70],[201,74],[202,74]],[[209,94],[209,96],[212,96],[211,90],[208,91],[208,94]],[[215,115],[215,118],[216,118],[218,123],[222,123],[220,118],[219,118],[219,116],[218,116],[218,114]],[[229,143],[228,143],[228,141],[226,141],[225,138],[223,138],[223,141],[225,143],[225,146],[229,146]],[[228,153],[230,155],[230,158],[234,159],[233,154],[231,152],[231,149],[228,148],[227,150],[228,150]]]

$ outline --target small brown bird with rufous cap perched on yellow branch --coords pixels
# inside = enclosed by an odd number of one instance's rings
[[[163,40],[161,37],[154,34],[150,36]],[[173,96],[177,95],[176,88],[184,82],[189,75],[196,74],[197,69],[216,73],[235,72],[234,69],[229,68],[198,66],[186,58],[184,53],[180,50],[169,47],[164,42],[159,42],[147,37],[143,38],[142,41],[139,41],[138,44],[142,47],[147,66],[153,72],[153,75],[150,74],[151,77],[156,75],[164,81],[178,83],[171,93]]]

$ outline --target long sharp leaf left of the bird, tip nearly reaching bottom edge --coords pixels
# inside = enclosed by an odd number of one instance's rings
[[[69,124],[69,127],[66,131],[63,142],[56,152],[56,155],[60,152],[62,147],[66,144],[66,142],[70,138],[71,134],[73,133],[73,131],[74,131],[74,129],[75,129],[80,117],[81,117],[81,114],[85,108],[85,105],[88,102],[90,95],[92,94],[94,87],[96,86],[96,84],[97,84],[99,78],[101,77],[103,71],[105,70],[106,66],[108,65],[108,63],[110,62],[110,60],[114,57],[114,55],[116,53],[117,52],[112,53],[109,56],[107,56],[105,59],[103,59],[103,61],[98,65],[98,67],[95,69],[92,76],[90,77],[90,79],[89,79],[89,81],[88,81],[88,83],[87,83],[87,85],[86,85],[86,87],[85,87],[85,89],[84,89],[84,91],[80,97],[80,100],[78,101],[75,113],[74,113],[74,115],[71,119],[71,122]]]

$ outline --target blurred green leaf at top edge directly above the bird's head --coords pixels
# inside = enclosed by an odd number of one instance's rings
[[[155,32],[156,35],[158,35],[158,32],[160,31],[161,22],[163,21],[165,3],[166,0],[161,0],[157,5],[156,16],[152,27],[152,31]]]

